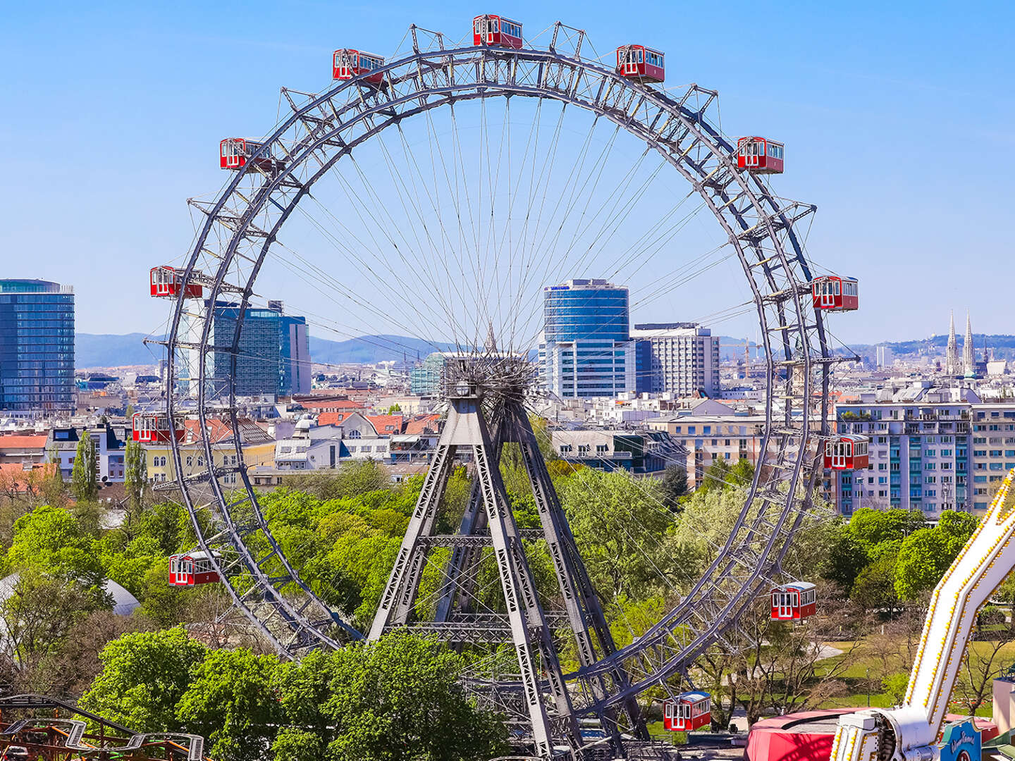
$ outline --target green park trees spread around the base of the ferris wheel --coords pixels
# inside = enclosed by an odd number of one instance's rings
[[[87,459],[88,446],[82,442],[75,464]],[[128,452],[126,462],[118,521],[94,501],[87,471],[75,469],[69,493],[52,478],[30,493],[0,492],[5,689],[79,699],[137,730],[201,734],[219,760],[435,761],[504,750],[500,717],[458,685],[474,659],[468,648],[396,634],[281,662],[268,643],[241,635],[223,618],[229,601],[221,584],[171,586],[168,555],[196,545],[191,518],[146,488],[138,452]],[[720,461],[688,493],[679,469],[634,479],[561,461],[548,468],[618,645],[645,633],[715,558],[754,475],[746,461]],[[537,528],[524,465],[510,445],[501,474],[518,524]],[[363,630],[420,488],[421,478],[395,485],[365,462],[293,477],[260,502],[303,580]],[[437,533],[456,530],[469,492],[469,473],[460,467]],[[761,599],[731,635],[735,650],[715,647],[696,665],[696,684],[714,696],[715,729],[732,722],[743,730],[772,712],[865,697],[891,702],[904,691],[929,594],[976,525],[960,512],[946,511],[932,526],[920,512],[864,508],[844,520],[823,509],[816,506],[784,562],[789,573],[818,583],[819,614],[802,626],[772,622]],[[532,541],[527,550],[537,586],[554,600],[545,543]],[[447,558],[432,559],[416,602],[421,617],[432,612]],[[476,594],[497,609],[492,564],[481,574]],[[106,579],[138,599],[133,615],[112,612]],[[957,697],[969,711],[983,708],[991,675],[1015,658],[1006,614],[1015,586],[998,597],[1003,605],[980,614],[959,679]],[[566,651],[563,662],[578,665]],[[658,717],[662,696],[644,696],[650,718]]]

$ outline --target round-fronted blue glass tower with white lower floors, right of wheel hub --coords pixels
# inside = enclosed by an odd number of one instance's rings
[[[543,288],[539,365],[545,390],[561,399],[634,391],[627,288],[606,280]]]

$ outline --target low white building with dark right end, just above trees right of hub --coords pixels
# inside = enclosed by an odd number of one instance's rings
[[[555,430],[552,442],[561,460],[601,471],[651,474],[685,465],[682,451],[661,431]]]

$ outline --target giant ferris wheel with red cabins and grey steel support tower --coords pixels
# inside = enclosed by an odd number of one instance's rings
[[[686,678],[759,594],[791,580],[782,560],[822,467],[853,467],[843,447],[859,457],[863,445],[826,422],[838,357],[824,315],[856,308],[856,281],[816,273],[805,251],[815,207],[771,190],[784,145],[728,138],[717,93],[665,88],[666,69],[661,51],[622,45],[600,56],[560,22],[527,38],[518,21],[481,15],[460,43],[412,26],[394,56],[336,51],[326,90],[283,88],[286,114],[271,134],[221,141],[228,180],[191,200],[200,224],[188,260],[152,270],[152,295],[173,304],[166,408],[135,416],[135,438],[171,445],[197,533],[199,547],[182,561],[192,575],[181,578],[226,580],[235,606],[287,656],[399,626],[514,642],[518,668],[477,669],[470,687],[524,723],[544,756],[561,743],[582,747],[580,716],[636,731],[638,694]],[[589,276],[630,283],[632,312],[680,310],[712,325],[753,316],[767,392],[755,475],[729,537],[625,647],[612,641],[527,416],[546,393],[533,379],[543,289]],[[238,376],[260,361],[245,315],[282,295],[316,331],[368,335],[406,358],[419,343],[398,337],[412,336],[450,357],[449,422],[368,631],[300,576],[244,460],[251,423],[238,412]],[[612,348],[599,352],[589,361],[617,366]],[[219,423],[233,432],[225,457]],[[183,459],[186,431],[202,445],[197,467]],[[509,441],[536,494],[558,611],[532,585],[523,540],[535,530],[501,509],[495,466]],[[438,534],[442,484],[462,449],[479,475],[459,530]],[[450,552],[444,581],[421,592],[438,549]],[[476,609],[484,559],[500,570],[495,610]],[[780,610],[790,610],[789,595],[799,596],[798,613],[803,598],[813,603],[806,584],[780,589]],[[426,594],[433,614],[424,621]],[[559,663],[558,629],[577,641],[577,670]]]

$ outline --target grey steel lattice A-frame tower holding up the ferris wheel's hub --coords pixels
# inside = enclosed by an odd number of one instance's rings
[[[539,536],[546,541],[553,562],[566,624],[582,666],[592,666],[612,654],[615,647],[523,405],[517,400],[498,399],[492,405],[490,425],[482,402],[483,391],[474,384],[460,388],[449,399],[448,420],[381,598],[369,639],[377,639],[393,627],[417,624],[412,628],[436,632],[455,643],[511,641],[518,658],[533,741],[539,755],[549,758],[554,741],[565,740],[572,750],[578,750],[582,741],[554,645],[551,619],[536,592],[522,533],[500,477],[499,453],[504,443],[519,445],[539,510]],[[434,536],[437,507],[460,449],[471,452],[474,458],[475,478],[469,503],[457,534]],[[433,621],[414,622],[427,553],[436,546],[453,548],[439,601]],[[504,636],[502,619],[476,614],[470,605],[479,557],[486,548],[492,548],[496,560],[510,637]],[[598,681],[599,697],[610,687],[626,685],[620,670]],[[639,734],[644,733],[636,701],[628,701],[624,709]],[[615,728],[616,721],[610,718],[608,725]],[[618,733],[615,735],[619,743]]]

